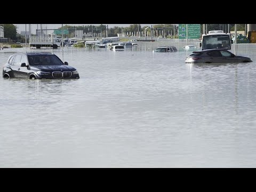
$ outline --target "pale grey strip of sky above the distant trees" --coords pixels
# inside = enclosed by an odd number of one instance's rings
[[[13,24],[15,26],[17,26],[17,31],[18,33],[20,33],[20,31],[25,31],[26,30],[26,24]],[[38,24],[38,29],[39,28],[39,25]],[[62,26],[62,24],[42,24],[43,25],[43,28],[45,29],[45,26],[46,26],[46,29],[58,29],[59,27]],[[94,25],[94,26],[98,26],[100,24],[63,24],[63,26],[65,25],[72,25],[72,26],[87,26],[87,25]],[[118,27],[129,27],[130,25],[132,24],[102,24],[102,25],[108,25],[108,28],[113,28],[115,26],[118,26]],[[144,27],[144,26],[150,26],[150,25],[155,25],[155,24],[140,24],[141,27]],[[31,24],[31,33],[36,33],[36,29],[37,29],[37,24]],[[27,24],[27,31],[28,31],[28,24]]]

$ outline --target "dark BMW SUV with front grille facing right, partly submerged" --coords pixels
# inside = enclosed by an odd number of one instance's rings
[[[30,79],[78,79],[79,74],[68,62],[62,62],[54,53],[31,52],[10,55],[3,66],[3,77]]]

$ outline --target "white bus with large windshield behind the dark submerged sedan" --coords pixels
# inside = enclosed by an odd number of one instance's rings
[[[223,30],[212,30],[202,36],[202,50],[206,49],[226,49],[231,50],[231,34],[224,33]]]

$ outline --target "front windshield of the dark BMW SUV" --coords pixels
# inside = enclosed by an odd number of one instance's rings
[[[35,65],[63,65],[56,55],[28,55],[29,64]]]

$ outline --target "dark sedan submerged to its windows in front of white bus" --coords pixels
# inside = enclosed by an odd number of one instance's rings
[[[251,58],[237,56],[226,49],[210,49],[194,51],[186,60],[186,63],[233,63],[252,62]]]

